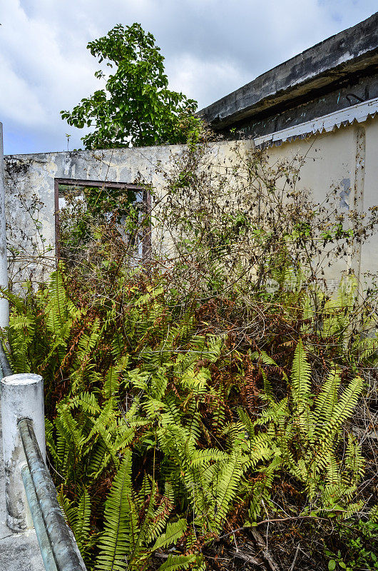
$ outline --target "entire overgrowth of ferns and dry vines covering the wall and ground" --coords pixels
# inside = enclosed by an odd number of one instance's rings
[[[190,145],[154,197],[163,251],[133,267],[145,219],[125,239],[89,209],[91,255],[11,296],[88,569],[377,569],[374,291],[322,276],[377,214],[312,203],[299,167]]]

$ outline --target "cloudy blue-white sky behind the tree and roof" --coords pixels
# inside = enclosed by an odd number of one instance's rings
[[[81,148],[59,112],[101,88],[86,49],[139,22],[165,56],[170,89],[198,108],[378,10],[378,0],[2,0],[4,153]]]

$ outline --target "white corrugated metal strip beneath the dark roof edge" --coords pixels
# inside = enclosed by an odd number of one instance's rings
[[[341,126],[351,125],[354,121],[362,123],[368,117],[374,117],[376,113],[378,113],[378,97],[311,119],[311,121],[305,121],[299,125],[287,127],[282,131],[256,137],[254,139],[255,146],[281,145],[285,141],[295,141],[297,138],[305,138],[315,135],[315,133],[329,133]]]

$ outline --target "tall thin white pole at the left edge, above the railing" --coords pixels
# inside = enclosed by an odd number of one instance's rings
[[[8,289],[8,261],[6,258],[6,221],[4,191],[3,123],[0,123],[0,287]],[[9,325],[9,301],[0,298],[0,328]]]

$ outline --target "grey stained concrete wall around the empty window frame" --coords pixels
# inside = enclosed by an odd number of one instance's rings
[[[235,143],[210,146],[213,163],[223,162],[231,146]],[[4,183],[11,284],[44,281],[55,265],[55,178],[145,183],[153,187],[161,201],[165,174],[183,151],[183,146],[151,146],[6,156]],[[160,243],[161,236],[155,234],[153,241]]]

